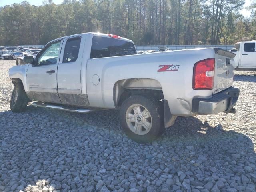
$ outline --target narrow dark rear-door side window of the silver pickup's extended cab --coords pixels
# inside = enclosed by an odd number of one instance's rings
[[[78,58],[80,43],[80,37],[70,38],[67,40],[64,50],[63,63],[72,63],[76,61]]]

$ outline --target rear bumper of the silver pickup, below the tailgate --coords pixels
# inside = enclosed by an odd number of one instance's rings
[[[195,114],[217,114],[220,112],[235,113],[233,108],[239,97],[239,89],[230,87],[214,94],[211,98],[194,98],[192,112]]]

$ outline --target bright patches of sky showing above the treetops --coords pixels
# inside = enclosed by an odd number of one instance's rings
[[[14,3],[21,3],[23,0],[0,0],[0,6],[5,6],[5,5],[11,5]],[[26,0],[32,5],[42,5],[42,0]],[[55,4],[61,4],[63,0],[53,0]],[[244,9],[240,11],[240,14],[242,14],[244,17],[249,18],[250,17],[250,11],[246,10],[245,7],[250,5],[250,2],[252,0],[245,0],[244,4]]]

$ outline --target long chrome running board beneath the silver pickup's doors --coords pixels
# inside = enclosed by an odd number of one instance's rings
[[[58,109],[62,111],[69,111],[69,112],[75,112],[75,113],[90,113],[96,111],[95,108],[91,109],[84,109],[84,108],[75,108],[75,107],[69,107],[69,106],[61,106],[58,104],[52,104],[52,103],[44,103],[44,102],[34,102],[34,106],[36,107],[44,107],[44,108],[50,108],[50,109]]]

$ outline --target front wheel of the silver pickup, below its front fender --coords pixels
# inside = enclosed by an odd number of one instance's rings
[[[28,105],[28,100],[28,96],[24,90],[22,83],[15,84],[10,102],[10,108],[12,112],[23,112]]]

